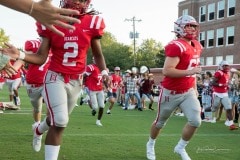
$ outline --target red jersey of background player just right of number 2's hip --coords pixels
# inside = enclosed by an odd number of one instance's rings
[[[102,74],[96,64],[89,64],[86,68],[85,85],[91,91],[103,90]]]

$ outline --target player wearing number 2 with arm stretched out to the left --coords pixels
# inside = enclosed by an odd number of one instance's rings
[[[101,74],[107,75],[100,43],[105,24],[103,18],[97,15],[98,12],[88,11],[90,2],[91,0],[60,1],[61,8],[70,8],[81,13],[76,17],[81,21],[80,24],[70,23],[75,27],[75,30],[56,26],[65,34],[64,37],[37,23],[37,32],[42,37],[37,54],[24,52],[19,54],[19,51],[11,45],[7,45],[3,49],[4,52],[15,56],[15,58],[40,65],[46,61],[51,50],[51,62],[45,76],[43,90],[49,116],[34,130],[34,139],[48,130],[45,139],[45,160],[58,159],[62,135],[81,90],[81,79],[85,71],[89,47],[92,49],[92,55]]]

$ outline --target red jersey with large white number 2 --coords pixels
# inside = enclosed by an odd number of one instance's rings
[[[84,15],[81,23],[75,23],[75,30],[57,27],[65,36],[61,37],[37,23],[37,32],[51,42],[51,63],[49,70],[63,74],[81,74],[85,71],[86,55],[93,38],[103,35],[105,24],[102,17]]]

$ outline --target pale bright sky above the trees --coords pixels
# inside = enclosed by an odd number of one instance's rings
[[[154,39],[166,45],[174,38],[173,24],[178,18],[178,2],[182,0],[92,0],[93,8],[100,11],[106,24],[105,31],[110,32],[118,42],[131,45],[129,37],[133,32],[133,22],[126,21],[135,17],[135,30],[139,33],[136,45],[142,40]],[[52,3],[59,5],[59,0]],[[29,39],[36,39],[35,20],[25,14],[0,6],[2,18],[0,28],[10,37],[10,43],[22,47]]]

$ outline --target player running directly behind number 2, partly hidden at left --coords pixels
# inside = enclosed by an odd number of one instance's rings
[[[28,54],[36,54],[40,46],[41,41],[37,40],[27,40],[24,44],[24,50]],[[33,119],[34,123],[32,125],[33,130],[40,124],[42,115],[42,104],[43,104],[43,83],[44,77],[46,75],[48,66],[50,64],[50,56],[47,58],[44,64],[35,65],[28,64],[26,72],[26,89],[30,102],[33,106]],[[42,136],[34,139],[33,148],[36,152],[41,149],[41,139]]]

